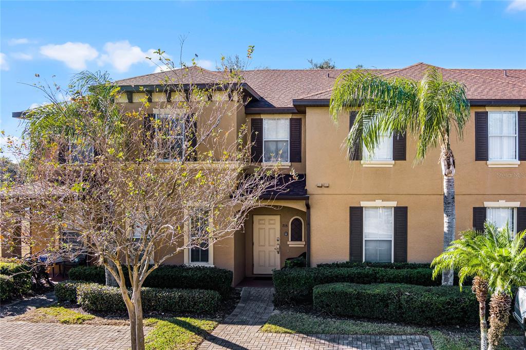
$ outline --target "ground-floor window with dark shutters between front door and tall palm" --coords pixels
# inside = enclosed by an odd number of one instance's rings
[[[393,207],[363,208],[363,261],[392,262]]]

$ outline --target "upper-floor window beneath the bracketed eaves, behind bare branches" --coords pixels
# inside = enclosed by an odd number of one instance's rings
[[[158,149],[163,159],[177,160],[185,156],[185,116],[157,114]]]

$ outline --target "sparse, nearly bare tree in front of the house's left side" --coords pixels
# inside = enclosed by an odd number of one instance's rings
[[[157,55],[167,67],[159,92],[171,102],[156,116],[147,114],[150,92],[128,110],[105,74],[79,74],[60,90],[65,99],[41,86],[50,103],[26,116],[25,183],[2,192],[3,240],[22,242],[47,262],[92,254],[115,278],[131,348],[140,350],[141,286],[151,271],[241,230],[248,213],[265,205],[261,194],[287,186],[278,166],[250,163],[247,127],[239,123],[248,99],[238,71],[222,69],[204,87],[195,84],[203,74],[195,63],[176,67]],[[39,233],[17,236],[22,218]]]

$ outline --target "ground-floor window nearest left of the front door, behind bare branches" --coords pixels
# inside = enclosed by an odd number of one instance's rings
[[[201,210],[190,218],[190,244],[199,243],[199,246],[189,249],[190,264],[210,264],[211,254],[208,244],[208,234],[210,226],[210,215],[207,210]]]

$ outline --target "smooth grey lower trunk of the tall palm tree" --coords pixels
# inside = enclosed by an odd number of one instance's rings
[[[455,180],[444,176],[444,251],[455,239]],[[442,272],[442,285],[453,285],[453,270]]]

